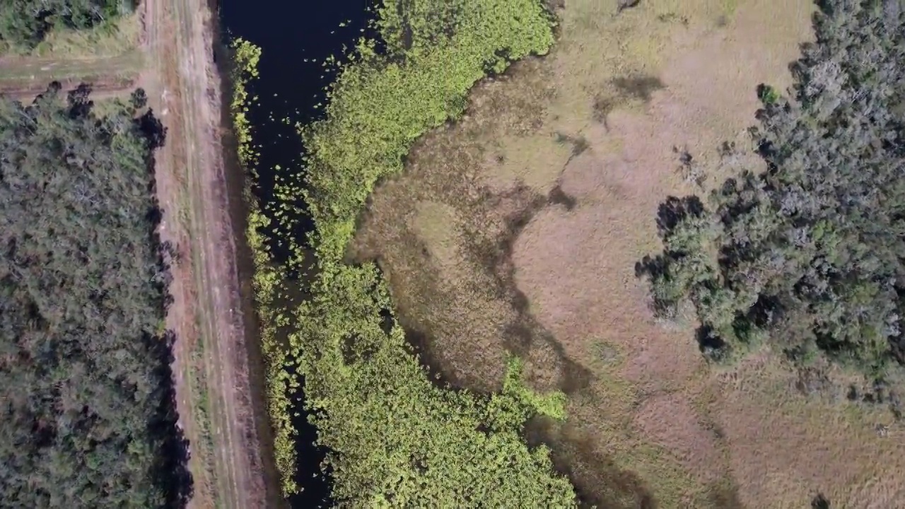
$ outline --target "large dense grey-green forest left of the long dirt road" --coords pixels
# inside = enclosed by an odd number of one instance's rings
[[[143,91],[99,118],[82,86],[0,101],[4,507],[186,500]]]

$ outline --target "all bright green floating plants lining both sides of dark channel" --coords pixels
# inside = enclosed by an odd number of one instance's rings
[[[556,475],[546,447],[529,450],[520,436],[525,420],[544,413],[564,416],[564,397],[539,395],[521,382],[521,363],[510,360],[500,393],[476,395],[444,389],[428,378],[395,325],[393,305],[375,264],[343,262],[356,218],[380,178],[403,169],[414,140],[456,118],[466,94],[486,72],[510,60],[546,53],[553,42],[548,14],[534,0],[458,0],[378,7],[377,28],[388,51],[361,40],[329,90],[325,120],[300,128],[310,154],[303,182],[295,168],[277,168],[273,217],[288,232],[302,197],[315,230],[317,257],[310,297],[281,310],[281,281],[304,269],[300,239],[286,266],[273,264],[259,227],[267,217],[252,211],[249,240],[255,249],[255,289],[269,361],[270,411],[286,493],[294,458],[290,404],[297,380],[284,370],[298,364],[306,379],[306,406],[319,444],[331,451],[333,497],[351,504],[474,504],[568,506],[572,486]],[[444,27],[440,31],[437,27]],[[236,48],[238,69],[249,71],[253,50]],[[244,53],[244,54],[243,54]],[[242,80],[236,80],[237,87]],[[254,154],[243,117],[247,98],[233,102],[246,168]],[[277,331],[291,329],[288,345]],[[286,347],[286,348],[284,348]]]

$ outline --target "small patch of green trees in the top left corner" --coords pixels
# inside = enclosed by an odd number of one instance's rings
[[[53,28],[84,29],[108,22],[134,0],[4,0],[0,2],[0,40],[32,47]]]

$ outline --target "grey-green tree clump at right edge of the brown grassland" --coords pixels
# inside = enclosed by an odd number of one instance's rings
[[[905,8],[817,5],[792,97],[757,91],[762,166],[662,204],[663,253],[638,268],[660,313],[693,304],[713,359],[770,341],[884,379],[905,362]]]

